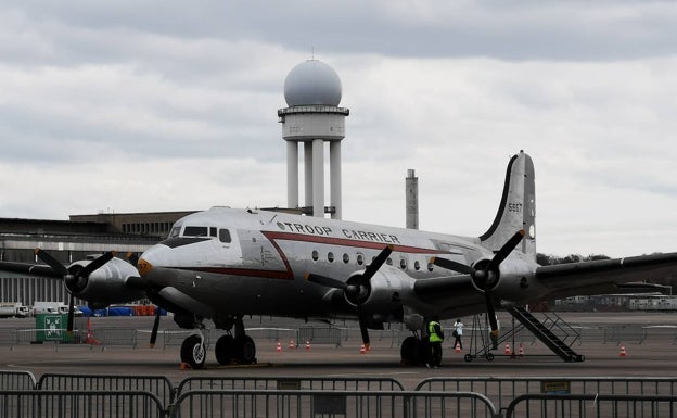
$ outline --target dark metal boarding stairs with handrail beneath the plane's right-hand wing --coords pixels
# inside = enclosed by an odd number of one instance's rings
[[[557,314],[545,315],[545,321],[540,321],[523,306],[511,306],[508,312],[564,362],[585,360],[585,356],[574,352],[565,342],[565,340],[572,340],[571,343],[573,343],[580,335]]]

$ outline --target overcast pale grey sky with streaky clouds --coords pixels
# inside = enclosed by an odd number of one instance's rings
[[[344,219],[404,226],[414,168],[421,229],[478,236],[525,150],[539,252],[677,251],[675,2],[10,3],[0,217],[285,206],[277,111],[315,58],[350,110]]]

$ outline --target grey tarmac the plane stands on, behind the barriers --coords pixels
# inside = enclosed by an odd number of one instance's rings
[[[585,355],[582,363],[566,363],[540,342],[523,343],[523,356],[504,355],[499,346],[494,360],[478,357],[467,362],[471,352],[465,347],[457,353],[445,343],[443,367],[400,365],[398,346],[389,341],[372,341],[372,347],[360,353],[359,338],[350,339],[336,347],[315,344],[306,350],[301,343],[290,349],[289,341],[281,341],[278,351],[276,341],[255,339],[257,364],[250,366],[221,366],[209,351],[206,367],[202,370],[182,369],[179,360],[179,346],[149,349],[145,344],[130,346],[100,346],[88,344],[21,344],[0,345],[0,369],[30,371],[36,378],[43,373],[76,375],[137,375],[164,376],[178,383],[193,376],[207,377],[388,377],[398,380],[405,389],[413,390],[424,379],[431,377],[648,377],[674,378],[677,370],[677,346],[674,329],[677,316],[663,314],[565,314],[571,324],[592,326],[599,324],[633,324],[642,327],[665,328],[668,332],[652,335],[641,342],[586,342],[574,344],[573,349]],[[128,327],[139,326],[152,318],[97,318],[97,326]],[[170,326],[170,319],[163,319],[162,327]],[[17,325],[18,324],[18,325]],[[30,324],[22,320],[0,320],[0,329]],[[503,322],[506,324],[506,322]],[[97,326],[92,332],[95,337]],[[467,341],[464,343],[469,345]],[[516,351],[516,347],[511,347]]]

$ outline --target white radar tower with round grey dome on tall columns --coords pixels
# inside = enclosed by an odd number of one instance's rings
[[[332,218],[341,219],[341,140],[345,137],[345,117],[341,103],[341,79],[329,65],[308,60],[296,65],[284,80],[284,100],[280,109],[282,138],[286,141],[286,201],[298,206],[298,143],[304,144],[305,210],[324,216],[324,141],[330,154],[330,207]]]

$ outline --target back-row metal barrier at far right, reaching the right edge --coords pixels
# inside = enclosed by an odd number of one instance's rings
[[[416,391],[467,391],[486,394],[506,407],[525,394],[595,393],[600,395],[677,395],[677,378],[430,378]]]

